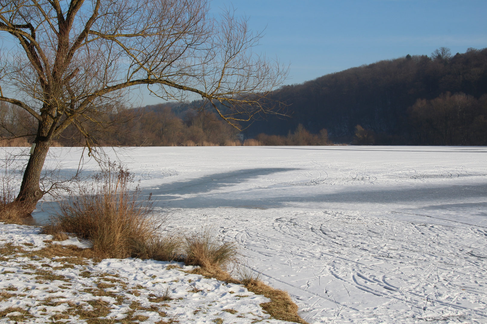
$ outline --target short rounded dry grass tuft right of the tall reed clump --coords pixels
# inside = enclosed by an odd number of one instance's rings
[[[184,246],[185,263],[201,266],[208,271],[226,271],[240,256],[237,244],[222,242],[204,228],[200,233],[186,237]]]

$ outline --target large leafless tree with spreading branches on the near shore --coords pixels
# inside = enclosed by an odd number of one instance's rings
[[[0,101],[38,124],[15,204],[30,213],[44,194],[53,138],[75,125],[90,146],[82,120],[134,87],[166,100],[196,94],[236,127],[276,112],[266,98],[287,69],[252,51],[262,35],[246,19],[208,11],[207,0],[0,0]]]

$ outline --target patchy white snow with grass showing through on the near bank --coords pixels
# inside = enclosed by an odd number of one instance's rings
[[[0,228],[0,244],[16,237],[15,243],[30,243],[22,246],[25,251],[38,251],[38,247],[31,244],[43,246],[46,244],[43,241],[52,239],[50,235],[38,234],[39,227],[1,224]],[[20,239],[22,235],[23,240]],[[73,239],[63,243],[71,241]],[[143,322],[148,324],[168,319],[189,324],[214,323],[218,318],[236,324],[256,320],[289,323],[269,319],[262,311],[259,304],[270,301],[268,298],[249,292],[241,285],[186,273],[194,267],[182,263],[172,263],[178,267],[171,268],[169,262],[135,258],[104,259],[98,263],[89,260],[86,264],[66,260],[64,257],[28,257],[25,253],[4,257],[0,261],[0,291],[12,296],[2,300],[0,312],[18,307],[28,310],[28,316],[22,319],[26,323],[53,323],[53,316],[64,312],[61,315],[69,314],[69,317],[59,319],[60,323],[86,323],[69,309],[79,307],[90,311],[94,309],[90,302],[101,300],[109,305],[105,317],[108,320],[127,318],[130,308],[133,309],[132,303],[136,302],[140,307],[132,316],[145,316]],[[55,277],[46,277],[46,273]],[[100,289],[104,291],[101,295]],[[154,300],[164,296],[166,291],[171,300]],[[19,311],[7,312],[0,323],[16,323],[11,320],[22,315]]]

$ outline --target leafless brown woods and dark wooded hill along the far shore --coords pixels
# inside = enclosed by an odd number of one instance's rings
[[[103,122],[74,124],[54,144],[85,145],[84,129],[91,145],[487,145],[487,49],[408,54],[285,85],[272,98],[287,117],[261,116],[242,132],[197,113],[198,101],[166,102],[107,107]],[[0,118],[1,145],[32,142],[37,122],[22,109],[1,102]]]

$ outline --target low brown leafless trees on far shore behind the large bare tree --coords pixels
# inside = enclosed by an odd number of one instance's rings
[[[128,109],[109,107],[98,120],[85,119],[83,127],[70,125],[55,138],[54,146],[83,146],[86,136],[99,146],[214,146],[241,145],[239,132],[214,114],[197,113],[190,109],[176,116],[175,103]],[[35,120],[17,106],[0,102],[0,137],[15,134],[35,134]],[[100,122],[101,120],[101,122]],[[26,130],[29,132],[26,132]],[[82,130],[86,134],[82,134]],[[85,136],[86,135],[86,136]],[[2,146],[27,146],[34,136],[23,136],[0,141]]]

